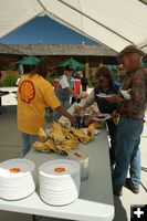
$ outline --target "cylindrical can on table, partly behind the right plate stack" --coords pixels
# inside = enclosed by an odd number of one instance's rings
[[[76,160],[81,167],[81,180],[88,178],[88,155],[80,149],[71,150],[67,154],[70,159]]]

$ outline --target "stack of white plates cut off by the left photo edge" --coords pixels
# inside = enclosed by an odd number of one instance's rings
[[[34,189],[32,171],[34,164],[28,159],[10,159],[0,164],[0,198],[19,200],[30,196]]]

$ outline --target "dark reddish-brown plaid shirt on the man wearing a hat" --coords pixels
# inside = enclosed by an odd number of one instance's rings
[[[143,119],[147,107],[147,69],[128,72],[122,90],[130,90],[130,99],[122,101],[118,113],[125,117]]]

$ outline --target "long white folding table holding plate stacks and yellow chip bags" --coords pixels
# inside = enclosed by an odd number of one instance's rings
[[[27,159],[35,164],[36,189],[25,199],[7,201],[0,199],[0,210],[44,215],[78,221],[111,221],[114,219],[114,200],[109,166],[108,140],[105,129],[101,129],[95,140],[81,144],[81,150],[90,156],[90,177],[82,181],[80,197],[67,206],[53,207],[44,203],[39,196],[39,167],[48,160],[66,158],[61,154],[43,154],[31,150]]]

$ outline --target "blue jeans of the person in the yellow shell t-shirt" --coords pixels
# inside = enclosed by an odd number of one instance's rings
[[[39,136],[29,135],[25,133],[21,133],[21,135],[22,135],[22,140],[23,140],[22,157],[24,157],[30,151],[32,144],[39,140]]]

